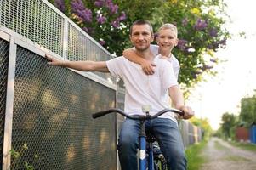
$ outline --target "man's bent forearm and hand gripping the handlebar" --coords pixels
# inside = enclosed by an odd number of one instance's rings
[[[191,107],[185,106],[183,94],[178,85],[168,88],[168,94],[174,103],[174,107],[184,111],[184,116],[182,116],[184,119],[190,119],[194,116],[194,111],[192,111]]]

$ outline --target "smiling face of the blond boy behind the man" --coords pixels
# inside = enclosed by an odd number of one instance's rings
[[[162,51],[171,51],[178,44],[177,35],[171,29],[164,29],[158,32],[156,42]]]

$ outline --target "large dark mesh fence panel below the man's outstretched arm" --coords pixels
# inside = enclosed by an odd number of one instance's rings
[[[17,48],[11,169],[117,169],[115,90]]]

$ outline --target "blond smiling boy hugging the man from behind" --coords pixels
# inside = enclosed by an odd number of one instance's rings
[[[167,59],[173,65],[175,77],[178,79],[180,69],[179,61],[171,53],[172,49],[177,46],[179,42],[177,27],[173,24],[162,25],[158,30],[156,42],[157,45],[151,45],[150,47],[151,53],[155,56],[161,54],[163,59]],[[135,53],[134,48],[125,49],[122,54],[125,58],[141,65],[145,74],[154,74],[154,66],[156,65],[139,57]]]

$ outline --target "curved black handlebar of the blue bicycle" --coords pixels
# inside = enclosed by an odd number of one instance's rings
[[[96,112],[94,113],[92,116],[94,119],[100,117],[100,116],[105,116],[109,113],[113,113],[113,112],[117,112],[119,114],[121,114],[122,116],[126,116],[130,119],[134,119],[134,120],[151,120],[151,119],[154,119],[158,116],[161,116],[162,114],[168,112],[168,111],[172,111],[174,113],[177,113],[179,114],[180,116],[183,116],[184,115],[184,112],[183,111],[179,111],[179,110],[176,110],[176,109],[163,109],[162,111],[159,111],[157,112],[155,115],[151,116],[151,115],[128,115],[127,113],[125,113],[124,111],[120,110],[120,109],[109,109],[109,110],[106,110],[106,111],[99,111],[99,112]]]

